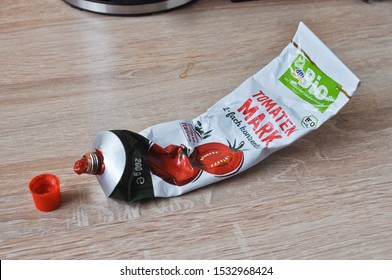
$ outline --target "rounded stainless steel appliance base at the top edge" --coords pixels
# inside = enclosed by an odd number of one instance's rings
[[[111,15],[141,15],[166,11],[193,0],[63,0],[73,7]]]

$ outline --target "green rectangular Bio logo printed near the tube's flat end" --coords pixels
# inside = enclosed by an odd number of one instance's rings
[[[303,54],[295,58],[279,81],[321,113],[335,102],[341,88],[340,84],[328,77]]]

